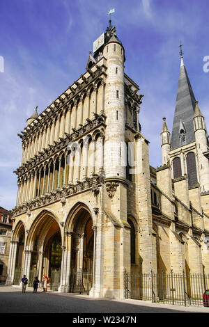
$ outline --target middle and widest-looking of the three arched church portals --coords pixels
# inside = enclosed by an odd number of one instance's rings
[[[61,275],[61,230],[59,223],[51,212],[41,212],[29,230],[26,242],[26,271],[29,276],[29,285],[33,278],[42,276],[50,279],[50,287],[58,289]],[[27,250],[28,249],[28,250]]]

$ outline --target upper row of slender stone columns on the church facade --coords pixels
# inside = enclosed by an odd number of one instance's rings
[[[49,117],[45,124],[38,127],[35,134],[22,142],[22,163],[42,152],[49,145],[54,145],[65,133],[70,134],[72,128],[84,125],[86,119],[93,118],[93,113],[104,112],[104,81],[91,85],[81,95],[77,95],[67,106]],[[47,111],[46,111],[47,112]],[[45,112],[42,113],[44,117]],[[41,121],[40,121],[41,122]]]

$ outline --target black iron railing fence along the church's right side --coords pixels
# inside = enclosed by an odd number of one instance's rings
[[[124,273],[125,298],[173,305],[203,305],[209,275],[200,273]]]

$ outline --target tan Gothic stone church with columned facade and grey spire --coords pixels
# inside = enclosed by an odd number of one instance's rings
[[[7,285],[47,275],[73,292],[83,273],[90,296],[123,298],[124,271],[209,273],[208,135],[183,56],[157,168],[124,62],[109,21],[83,74],[18,134]]]

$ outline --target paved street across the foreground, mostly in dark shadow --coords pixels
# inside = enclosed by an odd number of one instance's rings
[[[1,313],[208,313],[209,308],[164,305],[137,300],[92,299],[85,295],[42,292],[27,287],[0,287]]]

